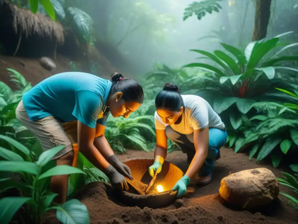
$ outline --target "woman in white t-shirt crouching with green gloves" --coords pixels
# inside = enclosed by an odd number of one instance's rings
[[[178,197],[186,193],[190,179],[198,185],[211,181],[214,162],[224,146],[227,132],[224,123],[209,103],[195,95],[180,95],[178,87],[167,83],[155,98],[156,148],[151,177],[162,170],[167,156],[167,138],[187,154],[190,163],[185,175],[175,184]]]

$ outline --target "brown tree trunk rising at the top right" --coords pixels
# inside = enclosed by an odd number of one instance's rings
[[[267,35],[270,19],[271,0],[255,0],[254,33],[252,41],[261,40]]]

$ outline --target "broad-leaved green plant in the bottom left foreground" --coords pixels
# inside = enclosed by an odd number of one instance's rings
[[[52,176],[66,174],[85,174],[84,171],[68,165],[52,167],[50,161],[55,154],[63,149],[58,146],[43,152],[36,160],[31,151],[21,143],[7,136],[0,139],[12,145],[11,149],[0,147],[0,171],[18,173],[22,181],[10,177],[0,179],[1,193],[11,188],[19,191],[20,197],[4,197],[0,200],[0,220],[8,224],[18,211],[24,223],[41,223],[46,211],[57,210],[56,217],[62,223],[90,223],[88,210],[76,199],[58,205],[53,202],[58,195],[49,191],[49,181]]]

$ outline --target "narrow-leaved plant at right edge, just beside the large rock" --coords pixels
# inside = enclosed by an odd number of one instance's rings
[[[290,168],[295,172],[295,176],[298,176],[298,165],[291,165]],[[297,177],[294,177],[291,174],[285,173],[285,172],[281,172],[283,174],[284,178],[277,178],[278,182],[281,185],[285,185],[289,188],[291,188],[291,190],[293,190],[297,196],[298,196],[298,179]],[[283,192],[280,192],[280,194],[284,195],[285,197],[288,197],[289,199],[291,199],[294,203],[295,203],[295,207],[298,208],[298,200],[294,197],[292,197],[291,195],[285,194]]]

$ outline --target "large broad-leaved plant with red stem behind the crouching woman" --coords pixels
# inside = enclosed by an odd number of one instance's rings
[[[291,88],[277,71],[298,71],[281,66],[285,61],[297,61],[298,56],[280,56],[284,50],[298,43],[286,45],[272,53],[281,45],[280,37],[289,33],[292,32],[280,34],[269,40],[251,42],[244,52],[221,43],[231,56],[221,50],[215,50],[214,54],[204,50],[192,50],[204,55],[199,59],[211,59],[212,64],[192,63],[184,66],[198,67],[210,72],[206,74],[207,78],[202,80],[204,85],[201,85],[200,94],[204,93],[214,110],[221,114],[228,129],[229,140],[239,138],[238,141],[233,141],[233,144],[238,143],[237,148],[245,144],[243,136],[239,136],[238,129],[247,118],[257,115],[256,110],[252,109],[255,103],[276,100],[268,94],[274,93],[274,87]]]

